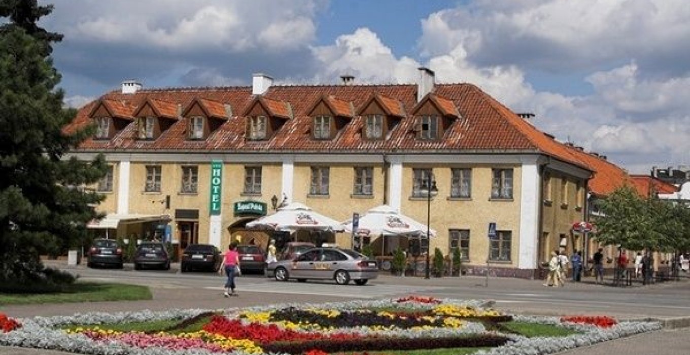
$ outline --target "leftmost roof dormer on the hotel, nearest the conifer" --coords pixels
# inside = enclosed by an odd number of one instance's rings
[[[89,113],[96,125],[95,139],[110,140],[117,132],[124,130],[134,121],[134,108],[126,103],[111,99],[101,99]]]

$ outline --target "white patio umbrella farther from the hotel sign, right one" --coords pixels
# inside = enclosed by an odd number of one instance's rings
[[[352,232],[352,219],[342,223],[346,232]],[[435,230],[429,230],[435,236]],[[397,212],[389,205],[380,205],[359,217],[357,236],[426,236],[426,225]]]

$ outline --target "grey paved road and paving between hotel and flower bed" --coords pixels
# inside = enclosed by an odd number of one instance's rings
[[[64,261],[62,261],[64,263]],[[132,270],[91,270],[83,265],[63,267],[83,280],[121,281],[149,285],[150,301],[80,303],[63,305],[16,305],[2,307],[12,317],[68,315],[83,312],[166,310],[170,308],[243,307],[267,303],[321,303],[356,298],[393,297],[419,294],[436,297],[482,298],[495,301],[500,310],[524,314],[608,314],[617,318],[659,318],[690,321],[690,281],[660,283],[644,287],[611,287],[585,281],[565,287],[542,286],[542,281],[479,276],[424,278],[384,275],[367,285],[341,286],[328,282],[279,283],[263,276],[242,276],[237,280],[240,296],[221,295],[223,278],[215,274],[179,274]],[[686,354],[690,352],[690,328],[664,329],[566,354]],[[0,354],[63,354],[33,349],[0,347]]]

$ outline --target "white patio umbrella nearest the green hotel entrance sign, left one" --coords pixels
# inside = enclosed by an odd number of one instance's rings
[[[274,214],[263,216],[247,223],[248,228],[268,228],[272,230],[326,230],[342,232],[344,227],[335,219],[313,211],[302,203],[288,203]]]

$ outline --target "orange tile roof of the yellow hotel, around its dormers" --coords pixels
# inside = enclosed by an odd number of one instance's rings
[[[436,84],[429,99],[444,113],[453,110],[459,119],[449,126],[440,141],[422,141],[414,132],[413,112],[417,85],[290,85],[272,86],[259,97],[250,87],[233,88],[179,88],[139,90],[135,94],[108,92],[101,101],[120,103],[123,108],[141,108],[152,103],[158,112],[177,116],[178,105],[187,108],[199,100],[209,114],[221,114],[224,105],[235,112],[244,112],[226,121],[205,141],[188,141],[184,134],[186,119],[174,123],[154,142],[136,139],[134,124],[128,125],[110,141],[88,139],[81,150],[221,150],[228,152],[248,151],[301,151],[301,152],[455,152],[477,153],[538,153],[552,156],[580,168],[594,172],[590,188],[594,194],[607,195],[623,181],[629,181],[627,173],[613,163],[582,152],[540,132],[528,121],[520,118],[488,94],[468,83]],[[344,113],[352,105],[362,110],[364,105],[376,100],[386,114],[400,116],[400,124],[384,141],[362,139],[363,119],[355,114],[331,141],[311,139],[311,117],[308,110],[319,99],[328,98],[334,110]],[[76,130],[90,123],[88,114],[95,109],[95,101],[84,106],[66,130]],[[246,139],[246,112],[261,103],[275,116],[286,119],[285,124],[265,142]],[[213,113],[211,113],[213,112]],[[173,114],[174,113],[174,114]]]

